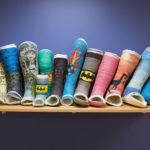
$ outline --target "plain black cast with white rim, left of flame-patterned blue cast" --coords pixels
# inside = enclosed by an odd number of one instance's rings
[[[52,84],[51,96],[47,98],[46,104],[56,106],[60,103],[64,82],[67,73],[67,55],[56,54],[54,56],[54,79]]]

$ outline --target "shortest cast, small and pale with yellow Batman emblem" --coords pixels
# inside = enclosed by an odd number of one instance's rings
[[[33,100],[33,106],[44,106],[48,92],[48,75],[36,76],[36,98]]]

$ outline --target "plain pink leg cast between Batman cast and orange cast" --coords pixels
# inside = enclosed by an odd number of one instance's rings
[[[96,81],[92,89],[89,103],[93,106],[104,106],[106,100],[103,98],[108,88],[119,63],[119,57],[110,52],[105,52],[99,70],[96,76]]]

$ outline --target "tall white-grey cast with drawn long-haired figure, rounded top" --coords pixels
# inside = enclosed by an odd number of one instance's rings
[[[25,83],[22,105],[32,105],[35,98],[36,75],[38,74],[37,57],[38,49],[35,43],[26,41],[19,46],[19,59]]]

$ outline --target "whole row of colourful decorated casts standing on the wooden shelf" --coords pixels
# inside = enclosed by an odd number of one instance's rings
[[[142,54],[88,48],[78,38],[68,59],[31,41],[0,47],[0,103],[33,106],[146,107],[150,103],[150,47]]]

